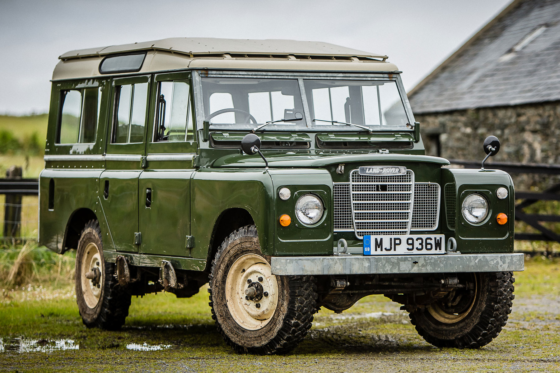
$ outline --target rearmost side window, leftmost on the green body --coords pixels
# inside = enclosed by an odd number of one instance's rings
[[[101,87],[60,91],[57,144],[95,143]]]

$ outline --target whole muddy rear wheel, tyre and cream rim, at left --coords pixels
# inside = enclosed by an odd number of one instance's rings
[[[128,316],[131,295],[114,276],[114,263],[105,262],[101,230],[90,220],[82,230],[76,251],[76,302],[88,328],[115,330]]]

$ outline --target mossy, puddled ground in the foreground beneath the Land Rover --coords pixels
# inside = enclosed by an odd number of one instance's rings
[[[557,259],[528,259],[526,271],[516,273],[506,328],[479,350],[432,347],[398,304],[368,296],[342,314],[322,309],[290,354],[248,356],[223,343],[210,317],[206,287],[189,299],[161,293],[133,298],[118,332],[85,328],[69,269],[73,258],[59,265],[60,257],[41,250],[31,257],[43,256],[45,271],[27,277],[30,284],[1,285],[0,371],[560,371]]]

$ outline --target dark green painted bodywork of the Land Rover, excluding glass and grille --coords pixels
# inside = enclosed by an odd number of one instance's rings
[[[330,255],[340,238],[346,239],[349,247],[359,249],[362,241],[354,232],[333,232],[333,183],[348,182],[349,172],[360,166],[384,165],[406,166],[414,172],[416,182],[433,182],[441,187],[438,228],[430,232],[414,231],[414,234],[455,237],[459,251],[463,253],[512,251],[514,188],[507,173],[451,169],[446,159],[424,155],[418,124],[413,131],[373,134],[355,128],[332,129],[333,126],[304,131],[280,131],[270,126],[258,133],[263,143],[303,141],[309,147],[267,149],[263,146],[262,152],[269,163],[269,169],[265,169],[258,154],[247,155],[237,147],[249,131],[212,131],[207,138],[199,137],[204,134],[204,126],[197,96],[200,88],[195,89],[193,83],[192,75],[196,74],[185,70],[53,82],[45,170],[40,177],[41,243],[58,253],[75,245],[81,228],[74,218],[88,211],[99,220],[105,257],[109,261],[123,254],[133,265],[159,267],[162,260],[167,260],[177,269],[202,271],[208,270],[212,259],[209,250],[221,243],[215,240],[219,235],[217,227],[236,224],[227,221],[232,218],[222,218],[245,210],[256,225],[260,245],[267,255]],[[197,130],[187,141],[153,142],[158,82],[172,80],[190,82],[194,97],[194,128]],[[143,141],[111,144],[114,87],[141,82],[148,83],[149,98]],[[60,90],[80,87],[102,87],[96,142],[55,144]],[[412,120],[412,112],[408,114]],[[389,149],[389,153],[325,150],[318,149],[318,140],[347,143],[410,141],[412,149]],[[341,166],[344,166],[343,171]],[[55,185],[54,208],[49,210],[51,180]],[[109,195],[105,198],[106,181],[109,182]],[[444,193],[445,185],[451,183],[455,185],[456,193],[455,229],[450,229],[447,224]],[[510,193],[506,200],[498,200],[495,196],[496,189],[501,186],[508,188]],[[291,190],[291,197],[286,201],[278,197],[282,187]],[[146,206],[148,188],[152,192],[149,207]],[[471,192],[483,193],[491,205],[488,219],[477,226],[466,223],[459,211],[464,197]],[[319,196],[325,207],[323,218],[313,226],[302,224],[295,215],[297,199],[307,193]],[[496,215],[500,212],[509,217],[506,225],[496,223]],[[291,225],[283,227],[279,224],[282,214],[291,216]],[[142,235],[139,244],[134,243],[134,233],[137,232]],[[193,237],[192,245],[186,244],[187,236]],[[68,237],[73,237],[74,243]]]

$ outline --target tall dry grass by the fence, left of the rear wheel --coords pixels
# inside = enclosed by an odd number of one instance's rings
[[[0,246],[0,284],[57,286],[73,281],[76,254],[59,255],[35,242]]]

